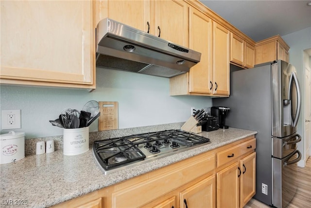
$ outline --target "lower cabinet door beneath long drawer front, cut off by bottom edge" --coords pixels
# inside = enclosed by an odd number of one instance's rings
[[[180,208],[214,208],[215,207],[215,175],[194,184],[179,194]]]

